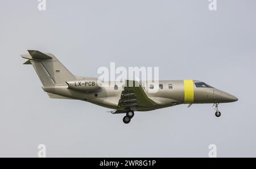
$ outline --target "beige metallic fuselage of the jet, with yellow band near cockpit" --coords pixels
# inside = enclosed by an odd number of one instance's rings
[[[93,104],[101,105],[107,108],[119,109],[118,101],[123,90],[122,83],[110,82],[109,87],[101,87],[95,92],[81,92],[68,88],[68,85],[59,85],[54,87],[43,87],[44,91],[65,96],[67,98],[84,100]],[[153,109],[170,107],[178,104],[203,104],[203,103],[228,103],[236,102],[238,99],[227,92],[218,90],[214,87],[196,86],[201,81],[159,81],[158,91],[148,92],[152,86],[141,82],[144,92],[156,103],[154,107],[137,107],[137,111],[150,111]],[[205,83],[204,83],[205,84]]]

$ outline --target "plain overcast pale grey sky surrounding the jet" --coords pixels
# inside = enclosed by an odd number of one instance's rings
[[[256,157],[256,1],[1,1],[0,157]],[[160,79],[197,79],[239,98],[137,112],[49,99],[27,49],[51,52],[75,75],[100,66],[159,66]]]

